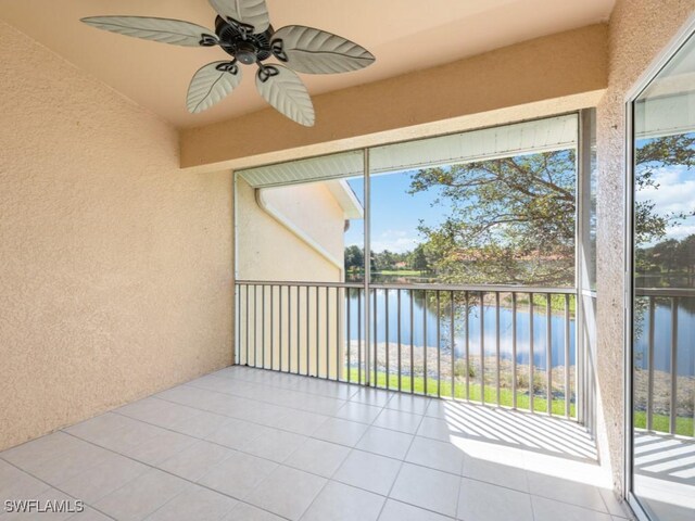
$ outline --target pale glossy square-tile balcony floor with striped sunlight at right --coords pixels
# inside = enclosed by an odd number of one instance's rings
[[[627,519],[607,484],[570,421],[231,367],[0,453],[0,521]]]

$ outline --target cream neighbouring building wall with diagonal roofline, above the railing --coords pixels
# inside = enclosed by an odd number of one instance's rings
[[[268,203],[336,258],[343,258],[344,214],[325,186],[298,185],[266,193]],[[342,280],[338,266],[258,206],[253,188],[241,178],[237,181],[237,219],[239,279]]]

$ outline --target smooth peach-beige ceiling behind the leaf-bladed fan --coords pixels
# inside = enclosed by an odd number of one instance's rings
[[[312,94],[428,68],[539,36],[606,21],[615,0],[267,0],[277,29],[298,24],[336,33],[377,56],[367,69],[302,75]],[[0,20],[177,127],[197,127],[265,107],[254,69],[205,113],[186,110],[191,76],[228,56],[217,48],[181,48],[97,30],[84,16],[139,15],[214,28],[207,0],[0,0]]]

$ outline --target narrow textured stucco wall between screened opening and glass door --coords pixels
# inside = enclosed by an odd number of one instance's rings
[[[695,0],[619,0],[609,23],[608,90],[597,109],[597,370],[599,446],[618,490],[624,468],[624,97],[694,9]]]

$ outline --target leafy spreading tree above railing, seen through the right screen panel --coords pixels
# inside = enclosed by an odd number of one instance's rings
[[[573,151],[556,151],[419,170],[410,193],[452,206],[419,227],[443,280],[556,285],[574,277],[574,186]]]

